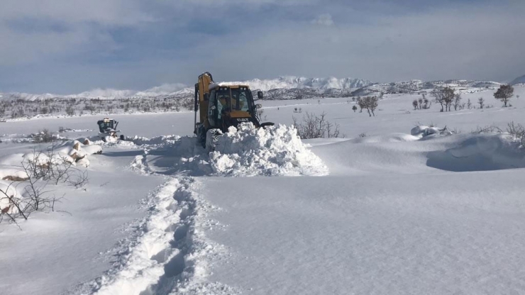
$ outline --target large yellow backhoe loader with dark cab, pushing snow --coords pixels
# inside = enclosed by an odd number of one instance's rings
[[[262,91],[257,92],[257,97],[262,99]],[[216,137],[226,133],[231,126],[248,122],[255,128],[273,126],[271,122],[260,123],[258,108],[262,106],[255,104],[248,85],[216,84],[211,74],[205,72],[195,84],[194,133],[203,147],[214,150]]]

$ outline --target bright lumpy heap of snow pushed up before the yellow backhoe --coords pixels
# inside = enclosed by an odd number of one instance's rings
[[[230,176],[328,174],[328,168],[306,149],[292,126],[254,128],[251,123],[230,127],[210,153],[216,174]]]

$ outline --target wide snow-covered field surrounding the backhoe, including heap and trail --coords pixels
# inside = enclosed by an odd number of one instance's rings
[[[133,140],[99,143],[89,184],[50,184],[57,211],[0,223],[0,293],[524,294],[525,150],[472,131],[524,124],[525,102],[463,94],[480,97],[494,107],[387,95],[372,118],[349,99],[262,101],[263,121],[326,112],[346,138],[239,130],[211,155],[193,113],[114,116]],[[0,123],[0,169],[45,148],[31,133],[92,137],[97,120]],[[458,134],[411,135],[418,123]]]

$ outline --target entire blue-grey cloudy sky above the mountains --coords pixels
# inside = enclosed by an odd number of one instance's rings
[[[0,91],[216,80],[512,80],[523,0],[1,0]]]

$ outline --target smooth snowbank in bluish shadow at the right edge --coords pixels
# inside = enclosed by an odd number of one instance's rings
[[[477,135],[444,152],[429,152],[426,165],[453,172],[525,167],[525,150],[508,135]]]

